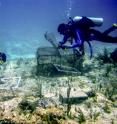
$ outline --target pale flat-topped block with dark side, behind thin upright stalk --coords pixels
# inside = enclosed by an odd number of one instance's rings
[[[88,98],[87,94],[80,89],[71,88],[70,91],[70,103],[80,103]],[[62,103],[68,103],[67,88],[63,88],[59,94],[59,100]]]

